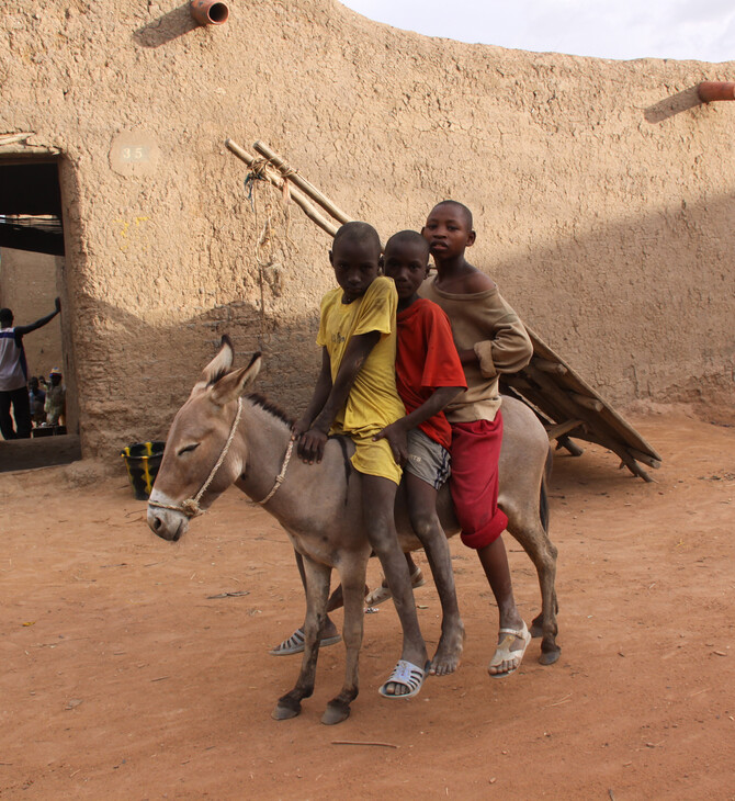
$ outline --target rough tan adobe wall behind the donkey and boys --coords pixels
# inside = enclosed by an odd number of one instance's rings
[[[60,5],[0,20],[0,133],[63,154],[86,453],[165,433],[225,331],[286,409],[310,391],[329,238],[274,194],[253,213],[227,137],[383,237],[467,203],[475,263],[607,398],[732,407],[735,103],[693,90],[732,65],[465,45],[330,0],[230,0],[207,29],[168,0]]]

